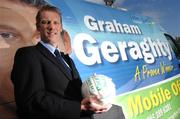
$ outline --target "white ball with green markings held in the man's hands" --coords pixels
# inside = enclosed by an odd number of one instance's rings
[[[105,105],[108,109],[112,106],[113,98],[116,96],[116,88],[112,79],[102,74],[93,74],[82,85],[83,97],[96,95],[99,97],[100,105]],[[92,105],[96,105],[92,103]]]

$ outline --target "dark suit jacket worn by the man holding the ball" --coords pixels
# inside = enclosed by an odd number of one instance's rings
[[[79,119],[81,80],[71,58],[72,76],[42,44],[20,48],[11,79],[19,118]]]

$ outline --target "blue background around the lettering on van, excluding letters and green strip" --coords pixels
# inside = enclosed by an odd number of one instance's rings
[[[146,37],[150,37],[152,41],[159,39],[159,41],[167,42],[161,32],[159,25],[153,22],[153,20],[149,17],[143,17],[134,13],[128,13],[126,11],[116,10],[81,0],[51,0],[49,2],[61,9],[63,16],[63,27],[69,32],[71,36],[71,43],[73,48],[74,37],[79,33],[87,33],[92,36],[98,42],[96,45],[98,47],[105,40],[111,41],[117,47],[118,41],[135,41],[138,43],[142,42]],[[84,24],[85,15],[90,15],[103,21],[112,21],[115,19],[122,24],[137,24],[143,34],[134,35],[91,31]],[[92,66],[83,64],[77,58],[74,51],[72,52],[71,57],[74,59],[82,80],[86,80],[93,73],[107,75],[111,77],[113,82],[116,84],[117,95],[165,80],[171,76],[179,74],[180,72],[177,65],[178,61],[175,58],[174,53],[173,59],[171,61],[167,57],[157,57],[155,63],[153,64],[147,64],[143,59],[133,60],[128,52],[127,61],[122,61],[121,57],[119,57],[119,60],[115,63],[110,63],[104,59],[102,53],[100,55],[102,63]],[[142,72],[143,65],[147,65],[148,69],[155,69],[159,68],[160,63],[162,62],[165,65],[172,65],[174,67],[173,71],[135,81],[134,75],[137,66],[139,66],[139,69]]]

